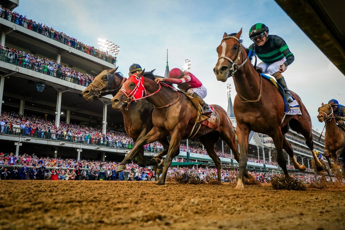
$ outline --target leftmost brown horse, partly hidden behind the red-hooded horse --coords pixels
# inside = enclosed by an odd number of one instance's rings
[[[103,70],[98,74],[92,83],[82,91],[83,98],[88,101],[97,100],[98,98],[112,94],[119,91],[122,86],[124,77],[121,73],[116,72],[116,69]],[[152,104],[146,100],[140,100],[131,103],[127,108],[122,108],[121,112],[124,116],[125,130],[129,137],[133,139],[133,143],[139,138],[145,136],[153,127],[152,124]],[[144,148],[139,150],[137,154],[138,164],[140,167],[156,165],[165,156],[169,148],[167,138],[162,138],[159,142],[163,145],[164,150],[156,156],[156,160],[148,160],[144,157]]]

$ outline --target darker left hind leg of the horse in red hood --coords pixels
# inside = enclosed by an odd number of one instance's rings
[[[215,151],[215,143],[217,143],[218,139],[219,137],[217,134],[211,134],[211,133],[199,137],[200,142],[205,146],[208,156],[210,156],[210,158],[216,164],[218,181],[221,182],[221,177],[220,177],[221,164],[220,164],[220,159],[217,156],[217,153]]]

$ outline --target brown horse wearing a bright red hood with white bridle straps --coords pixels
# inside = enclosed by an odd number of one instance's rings
[[[170,135],[170,146],[167,157],[164,160],[162,177],[157,183],[165,184],[168,168],[172,159],[178,154],[176,154],[176,151],[179,149],[181,140],[187,139],[190,136],[191,130],[195,125],[197,109],[185,94],[171,89],[173,87],[161,86],[164,83],[157,84],[154,79],[155,76],[150,72],[144,73],[141,71],[137,75],[131,75],[127,81],[123,83],[121,90],[111,99],[111,102],[112,108],[121,109],[126,102],[132,100],[132,95],[134,93],[136,93],[136,95],[138,93],[139,95],[147,95],[141,98],[146,98],[148,102],[154,105],[152,112],[154,127],[146,136],[136,141],[133,149],[120,163],[120,166],[122,165],[122,168],[124,168],[126,163],[130,162],[131,158],[135,156],[136,152],[142,149],[142,146],[145,144]],[[136,98],[135,100],[141,98]],[[236,160],[239,159],[239,154],[236,146],[235,131],[226,111],[220,106],[212,106],[216,116],[218,116],[216,127],[211,129],[201,125],[194,137],[199,138],[200,142],[205,146],[208,155],[215,162],[218,181],[220,181],[220,159],[215,151],[215,144],[219,137],[224,140],[234,152]]]

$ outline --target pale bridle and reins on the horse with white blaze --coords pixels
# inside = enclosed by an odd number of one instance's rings
[[[231,74],[230,74],[230,75],[231,75],[231,77],[233,77],[234,74],[236,73],[236,71],[237,71],[239,68],[241,68],[242,66],[244,66],[244,64],[248,61],[249,58],[248,58],[248,56],[247,56],[247,57],[246,57],[246,60],[244,60],[241,64],[238,64],[239,60],[241,59],[241,58],[240,58],[241,54],[242,54],[242,59],[243,59],[243,57],[244,57],[244,55],[243,55],[243,50],[242,50],[242,49],[243,49],[242,42],[240,42],[240,40],[239,40],[238,38],[236,38],[235,36],[227,36],[227,37],[224,37],[224,38],[222,39],[222,41],[225,40],[225,39],[230,39],[230,38],[235,39],[235,40],[239,43],[239,51],[238,51],[238,53],[237,53],[237,58],[236,58],[236,60],[233,61],[233,60],[231,60],[231,58],[226,57],[226,56],[220,56],[220,57],[218,58],[218,60],[221,59],[221,58],[224,58],[224,59],[226,59],[226,60],[228,60],[228,61],[231,62],[231,67],[230,67],[230,70],[229,70],[229,71],[231,71]],[[255,62],[255,65],[256,65],[256,62]],[[228,78],[230,77],[230,75],[228,76]],[[242,103],[246,103],[246,102],[257,102],[257,101],[259,101],[259,100],[261,99],[261,89],[262,89],[262,76],[261,76],[261,74],[260,74],[260,93],[259,93],[258,99],[256,99],[256,100],[248,100],[248,99],[244,98],[243,96],[241,96],[239,93],[237,93],[237,94],[245,100],[245,101],[242,101]]]

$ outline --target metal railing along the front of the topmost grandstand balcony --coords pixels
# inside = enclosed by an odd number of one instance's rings
[[[33,22],[30,22],[29,20],[23,20],[23,18],[19,18],[16,16],[13,16],[12,13],[7,13],[6,11],[4,11],[4,9],[2,9],[2,18],[13,22],[15,24],[18,24],[19,26],[22,26],[24,28],[27,28],[31,31],[34,31],[36,33],[39,33],[47,38],[51,38],[55,41],[58,41],[60,43],[63,43],[69,47],[75,48],[79,51],[82,51],[84,53],[90,54],[93,57],[99,58],[103,61],[109,62],[111,64],[116,64],[116,58],[112,57],[111,55],[104,54],[99,52],[99,50],[95,49],[95,47],[89,47],[89,46],[85,46],[83,44],[81,44],[80,42],[73,40],[73,38],[70,38],[68,36],[65,36],[62,33],[59,33],[56,30],[50,30],[48,27],[46,27],[45,29],[42,28],[41,25],[39,24],[33,24]]]

